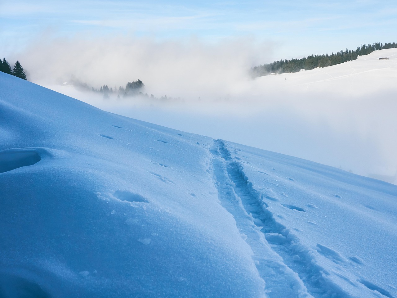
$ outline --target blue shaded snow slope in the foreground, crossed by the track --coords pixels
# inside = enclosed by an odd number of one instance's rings
[[[0,297],[397,297],[397,186],[0,91]]]

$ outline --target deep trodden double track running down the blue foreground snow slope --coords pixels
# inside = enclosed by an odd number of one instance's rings
[[[266,194],[254,190],[224,141],[214,140],[210,153],[220,203],[233,215],[241,236],[251,247],[268,297],[349,297],[327,279],[328,273],[316,264],[316,252],[277,223],[263,200]]]

